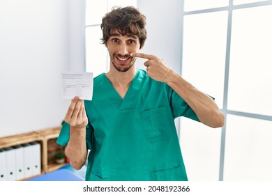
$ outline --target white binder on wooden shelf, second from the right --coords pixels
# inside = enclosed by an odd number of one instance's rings
[[[24,152],[24,177],[30,178],[33,176],[32,171],[32,146],[29,143],[25,143],[23,146],[23,152]]]

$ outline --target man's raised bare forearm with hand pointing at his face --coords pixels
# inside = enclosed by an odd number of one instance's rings
[[[225,116],[218,109],[216,102],[208,95],[199,91],[173,70],[168,72],[164,81],[188,103],[197,114],[200,122],[210,127],[222,127],[224,125]]]

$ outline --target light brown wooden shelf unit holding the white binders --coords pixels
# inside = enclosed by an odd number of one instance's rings
[[[40,143],[41,156],[41,174],[54,171],[66,165],[66,162],[58,164],[55,162],[54,155],[59,151],[64,151],[63,146],[56,143],[61,127],[54,127],[45,130],[17,134],[9,137],[0,138],[0,149],[14,147],[34,141]],[[27,178],[24,178],[27,179]]]

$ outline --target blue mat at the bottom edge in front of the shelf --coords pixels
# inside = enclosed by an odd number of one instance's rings
[[[84,178],[68,169],[59,169],[27,181],[84,181]]]

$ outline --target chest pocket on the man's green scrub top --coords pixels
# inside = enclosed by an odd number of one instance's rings
[[[169,139],[171,114],[167,107],[158,107],[141,112],[144,137],[146,141],[155,142]]]

